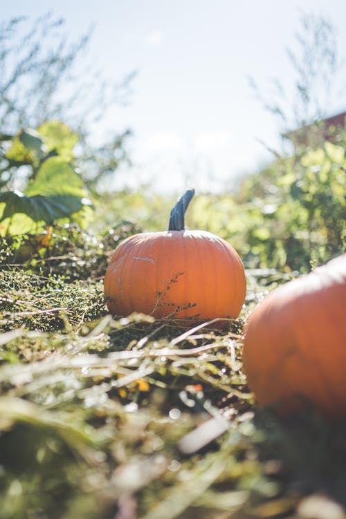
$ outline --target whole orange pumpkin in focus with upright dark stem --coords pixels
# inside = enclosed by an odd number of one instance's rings
[[[167,231],[136,234],[118,245],[104,277],[111,314],[194,321],[238,316],[246,294],[244,265],[226,240],[185,229],[192,196],[189,189],[176,203]]]

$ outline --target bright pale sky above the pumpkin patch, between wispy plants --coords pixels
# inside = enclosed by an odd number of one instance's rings
[[[109,81],[136,70],[126,106],[105,114],[95,134],[131,129],[131,168],[113,187],[180,193],[231,191],[271,160],[280,127],[249,84],[264,93],[273,79],[291,92],[287,48],[295,48],[300,12],[324,15],[346,49],[344,0],[17,0],[1,3],[1,19],[35,19],[52,10],[71,37],[94,25],[91,59]],[[81,100],[82,102],[82,100]],[[330,115],[346,99],[329,100]]]

